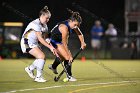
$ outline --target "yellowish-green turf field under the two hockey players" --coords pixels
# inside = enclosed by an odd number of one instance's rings
[[[73,74],[76,82],[54,82],[47,68],[46,83],[34,82],[24,71],[33,60],[0,60],[0,93],[140,93],[140,60],[75,60]],[[61,72],[61,65],[58,67]]]

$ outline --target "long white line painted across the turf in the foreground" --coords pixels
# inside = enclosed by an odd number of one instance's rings
[[[133,81],[133,82],[135,82],[135,81]],[[91,85],[95,86],[95,85],[133,83],[133,82],[131,82],[131,81],[120,81],[120,82],[105,82],[105,83],[91,83],[91,84],[59,85],[59,86],[50,86],[50,87],[43,87],[43,88],[30,88],[30,89],[12,90],[12,91],[8,91],[8,92],[0,92],[0,93],[15,93],[15,92],[31,91],[31,90],[46,90],[46,89],[68,87],[68,86],[91,86]]]

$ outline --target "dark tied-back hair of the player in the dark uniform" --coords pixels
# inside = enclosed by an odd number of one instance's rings
[[[74,21],[74,20],[77,20],[80,24],[82,23],[82,18],[79,14],[79,12],[73,12],[72,10],[70,9],[67,9],[72,15],[71,17],[69,18],[70,20]]]

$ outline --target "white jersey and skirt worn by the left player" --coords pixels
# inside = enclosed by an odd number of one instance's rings
[[[41,24],[39,18],[30,22],[26,27],[22,39],[21,39],[21,49],[23,53],[26,53],[27,49],[39,46],[38,39],[35,32],[48,32],[48,26]]]

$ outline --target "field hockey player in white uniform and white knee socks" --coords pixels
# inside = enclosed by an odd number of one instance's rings
[[[39,18],[33,20],[26,27],[22,39],[21,39],[21,49],[23,53],[29,53],[35,57],[35,61],[25,68],[25,71],[28,75],[34,79],[36,82],[46,82],[42,76],[43,67],[45,64],[45,54],[41,50],[39,43],[48,47],[53,54],[56,53],[56,50],[53,46],[49,45],[45,41],[43,33],[48,32],[47,22],[51,17],[51,13],[48,10],[48,7],[45,6],[39,13]],[[37,70],[36,76],[34,75],[34,70]]]

